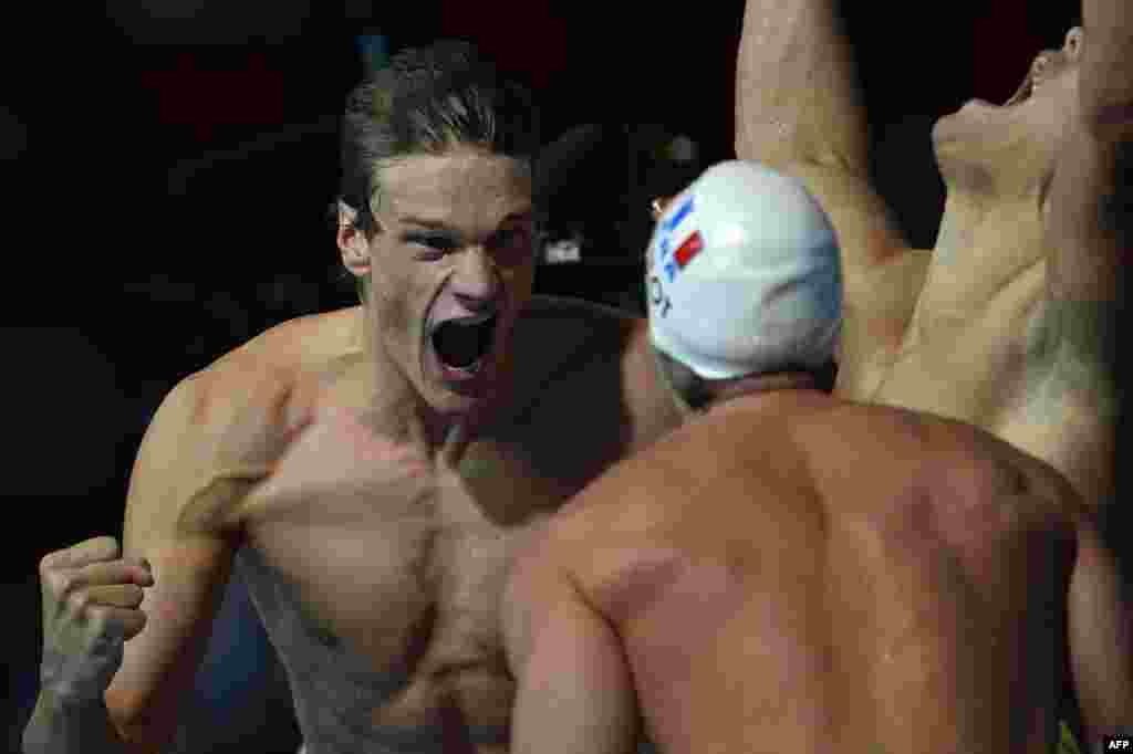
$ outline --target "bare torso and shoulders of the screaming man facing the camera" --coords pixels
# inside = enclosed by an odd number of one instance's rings
[[[163,496],[168,507],[131,508],[127,548],[154,551],[153,538],[171,530],[221,538],[288,670],[310,754],[504,752],[513,682],[497,600],[513,547],[672,421],[619,392],[634,365],[648,368],[633,355],[641,323],[533,299],[516,326],[511,400],[453,465],[349,412],[369,405],[359,323],[359,309],[287,323],[174,391],[138,463],[176,454],[181,487],[157,490],[170,481],[152,475],[136,485],[131,495]],[[167,446],[171,432],[176,447]],[[286,464],[304,471],[279,480],[273,470]],[[373,471],[360,475],[363,466]],[[233,485],[252,491],[233,494]],[[182,600],[207,599],[178,593],[181,579],[186,589],[202,581],[184,539],[178,563],[154,563],[165,591],[143,605],[165,626],[176,611],[196,612]],[[129,688],[162,711],[170,675],[187,671],[157,654],[157,641],[127,644],[108,692],[117,709],[130,708],[119,691]]]

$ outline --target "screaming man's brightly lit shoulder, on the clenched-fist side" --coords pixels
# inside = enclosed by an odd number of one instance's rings
[[[263,479],[317,397],[333,362],[341,314],[284,323],[178,383],[146,430],[129,506],[161,507],[178,525],[221,525],[240,494]],[[338,349],[338,350],[341,350]]]

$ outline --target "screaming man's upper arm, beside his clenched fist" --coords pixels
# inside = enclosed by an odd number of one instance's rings
[[[207,481],[195,397],[182,386],[167,397],[130,479],[123,554],[148,559],[154,575],[142,602],[145,628],[126,643],[107,692],[108,708],[130,739],[156,743],[172,735],[231,568],[231,535],[193,514],[191,503],[202,489],[222,498],[238,495],[242,485]]]

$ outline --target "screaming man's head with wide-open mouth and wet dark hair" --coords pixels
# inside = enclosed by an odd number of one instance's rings
[[[535,272],[538,115],[462,42],[404,50],[347,97],[338,243],[372,345],[460,413],[502,365]]]

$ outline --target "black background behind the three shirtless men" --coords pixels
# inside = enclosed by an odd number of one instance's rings
[[[536,88],[548,142],[593,125],[574,134],[586,148],[564,160],[574,169],[552,223],[582,229],[583,262],[540,269],[540,291],[636,306],[648,198],[733,156],[741,0],[408,5],[5,11],[9,746],[35,693],[37,560],[120,533],[130,464],[164,393],[275,323],[352,302],[326,207],[359,34],[394,51],[474,40]],[[943,206],[932,121],[972,96],[1005,100],[1041,48],[1062,44],[1077,3],[852,5],[878,186],[928,247]],[[658,158],[679,134],[697,143],[696,162]],[[185,751],[241,736],[233,751],[293,751],[287,689],[245,600],[233,592],[219,624]]]

